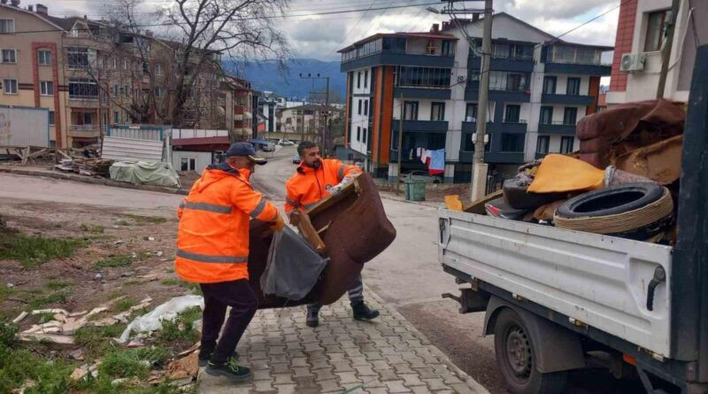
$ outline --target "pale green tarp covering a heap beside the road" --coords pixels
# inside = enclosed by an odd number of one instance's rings
[[[113,163],[109,172],[111,179],[118,182],[128,182],[135,185],[164,186],[179,188],[180,177],[167,163],[158,161],[138,161]]]

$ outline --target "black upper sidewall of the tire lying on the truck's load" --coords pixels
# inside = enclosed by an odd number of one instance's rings
[[[665,188],[657,183],[627,183],[598,189],[573,197],[560,205],[561,218],[595,218],[635,211],[663,197]]]

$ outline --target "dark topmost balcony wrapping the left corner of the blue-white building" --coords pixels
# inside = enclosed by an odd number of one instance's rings
[[[400,50],[379,50],[358,58],[342,61],[340,70],[342,73],[346,73],[358,68],[381,65],[452,68],[455,65],[455,56],[426,55],[419,52]]]

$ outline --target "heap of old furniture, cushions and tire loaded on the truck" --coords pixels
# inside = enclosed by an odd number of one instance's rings
[[[683,104],[663,99],[589,115],[577,125],[579,152],[520,166],[463,210],[673,244],[685,117]]]

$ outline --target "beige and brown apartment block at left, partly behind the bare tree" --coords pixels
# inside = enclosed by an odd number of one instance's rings
[[[112,124],[169,124],[180,45],[150,31],[56,18],[42,4],[24,9],[19,0],[3,0],[0,104],[49,108],[50,143],[61,148],[97,143]],[[224,75],[214,55],[189,87],[179,126],[242,133],[250,127],[249,92],[247,81]]]

